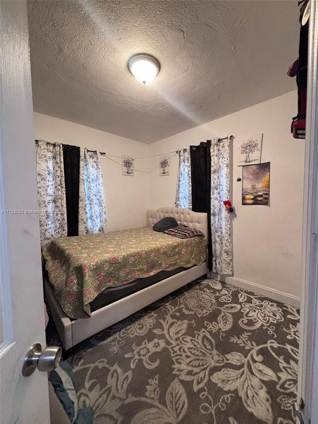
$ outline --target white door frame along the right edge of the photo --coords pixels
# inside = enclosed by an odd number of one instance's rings
[[[304,422],[318,417],[318,2],[311,0],[307,114],[298,402],[305,402]]]

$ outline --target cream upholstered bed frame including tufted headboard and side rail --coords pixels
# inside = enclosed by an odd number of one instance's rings
[[[147,225],[152,227],[157,221],[166,216],[172,216],[178,223],[186,224],[194,230],[202,231],[205,238],[208,239],[208,218],[206,213],[168,207],[149,210]],[[110,305],[104,306],[92,312],[89,318],[79,318],[74,321],[71,321],[63,312],[60,303],[54,295],[52,285],[45,277],[44,294],[62,343],[65,349],[69,349],[80,341],[118,323],[129,315],[156,302],[161,297],[201,277],[206,272],[206,262],[202,265],[195,265],[123,299],[119,299]]]

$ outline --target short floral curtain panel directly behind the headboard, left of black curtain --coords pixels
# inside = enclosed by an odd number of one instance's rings
[[[191,209],[191,167],[188,149],[179,150],[179,167],[175,203],[178,208]]]

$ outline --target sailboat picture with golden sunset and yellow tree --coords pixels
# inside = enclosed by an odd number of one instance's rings
[[[270,162],[243,167],[242,205],[268,205]]]

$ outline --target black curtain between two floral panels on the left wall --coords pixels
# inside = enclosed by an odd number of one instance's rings
[[[79,235],[79,152],[79,147],[63,144],[68,237]]]

